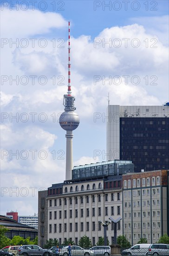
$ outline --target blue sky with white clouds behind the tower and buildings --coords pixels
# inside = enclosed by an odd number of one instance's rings
[[[37,213],[38,190],[65,180],[65,131],[58,118],[67,93],[68,20],[80,117],[73,158],[80,165],[106,160],[108,94],[110,104],[169,101],[168,5],[1,1],[0,214]]]

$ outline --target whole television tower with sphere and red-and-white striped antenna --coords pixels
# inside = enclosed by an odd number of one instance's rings
[[[60,115],[59,124],[61,128],[66,130],[66,180],[71,180],[71,170],[73,169],[73,147],[72,147],[72,139],[73,134],[72,131],[75,130],[79,125],[79,117],[78,114],[74,112],[76,108],[74,107],[75,97],[71,95],[71,45],[70,45],[70,22],[69,22],[69,61],[68,61],[68,91],[67,94],[64,95],[63,105],[65,106],[65,112]]]

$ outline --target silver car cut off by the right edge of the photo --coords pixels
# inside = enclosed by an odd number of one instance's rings
[[[154,243],[150,246],[148,255],[169,256],[169,244]]]

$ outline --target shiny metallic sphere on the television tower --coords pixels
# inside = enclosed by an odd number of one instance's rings
[[[73,131],[79,125],[79,116],[74,111],[65,111],[59,117],[59,124],[61,128],[66,131]]]

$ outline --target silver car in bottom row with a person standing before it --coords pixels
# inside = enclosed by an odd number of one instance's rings
[[[60,249],[59,254],[63,256],[68,256],[68,246],[63,247]],[[84,255],[84,256],[89,256],[89,255],[94,255],[93,251],[90,249],[84,249],[80,246],[77,245],[72,245],[71,246],[71,255]]]

